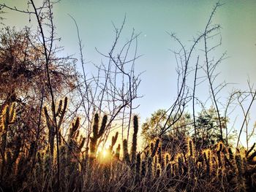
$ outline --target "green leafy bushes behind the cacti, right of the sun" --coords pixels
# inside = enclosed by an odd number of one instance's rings
[[[157,110],[151,115],[151,118],[146,119],[146,123],[142,125],[142,135],[147,143],[152,139],[158,137],[161,134],[162,129],[167,122],[167,126],[173,122],[173,118],[167,119],[165,110]],[[222,128],[227,125],[227,118],[221,117]],[[187,137],[192,137],[194,141],[197,141],[197,147],[208,148],[211,145],[217,144],[221,141],[221,134],[219,131],[219,119],[214,107],[210,107],[208,110],[202,110],[195,118],[195,128],[197,134],[194,132],[192,126],[192,119],[189,113],[181,115],[181,118],[171,126],[171,129],[165,134],[162,134],[163,141],[172,142],[173,145],[183,145]],[[193,134],[191,134],[193,133]],[[167,144],[163,142],[164,148]]]

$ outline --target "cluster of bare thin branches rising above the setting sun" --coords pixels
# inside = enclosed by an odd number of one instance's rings
[[[70,16],[72,18],[72,16]],[[121,136],[124,138],[124,131],[127,130],[127,140],[129,139],[129,129],[132,120],[132,110],[138,106],[133,105],[133,100],[140,98],[138,96],[138,87],[140,85],[140,74],[135,72],[135,61],[140,57],[137,53],[138,36],[135,31],[132,31],[131,37],[119,45],[121,32],[124,29],[125,18],[120,28],[113,25],[116,31],[116,37],[110,51],[105,54],[100,52],[97,48],[99,55],[102,55],[102,64],[96,65],[96,74],[88,74],[86,72],[86,63],[83,56],[83,45],[80,39],[78,24],[75,18],[78,34],[78,46],[80,51],[80,64],[82,66],[83,74],[82,79],[77,78],[77,90],[80,95],[81,107],[85,114],[85,128],[87,138],[91,134],[92,122],[95,113],[107,114],[110,117],[105,134],[99,139],[99,144],[108,139],[110,131],[116,128],[121,128]],[[120,47],[118,49],[118,47]],[[121,125],[121,126],[120,126]],[[110,127],[115,127],[110,130]],[[86,146],[89,144],[87,139]]]

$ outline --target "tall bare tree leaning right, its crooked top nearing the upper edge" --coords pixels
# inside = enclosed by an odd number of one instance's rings
[[[164,128],[162,129],[161,134],[159,134],[159,137],[161,137],[162,134],[165,134],[165,131],[167,131],[169,128],[171,128],[178,120],[179,118],[181,118],[181,115],[184,113],[185,108],[187,107],[187,104],[189,104],[189,101],[192,100],[193,102],[193,108],[194,108],[194,116],[195,116],[195,87],[197,86],[197,70],[198,68],[203,69],[203,66],[199,66],[198,62],[199,62],[199,58],[198,61],[196,63],[195,66],[195,78],[194,78],[194,85],[192,88],[192,95],[189,94],[189,85],[187,83],[187,78],[189,76],[189,74],[192,72],[192,69],[190,66],[191,63],[191,59],[193,57],[193,52],[195,52],[197,45],[200,43],[201,40],[205,40],[205,42],[207,42],[207,38],[208,36],[210,36],[212,33],[214,33],[214,31],[218,31],[219,30],[219,25],[216,26],[211,26],[211,20],[212,17],[216,11],[216,9],[221,6],[221,4],[217,3],[216,6],[214,7],[214,10],[211,12],[211,16],[208,19],[208,23],[206,24],[206,28],[203,31],[202,34],[200,34],[197,38],[194,39],[192,46],[189,48],[189,50],[187,50],[184,46],[184,44],[181,42],[181,40],[176,37],[175,34],[169,34],[170,37],[172,39],[174,39],[176,42],[178,42],[178,45],[180,45],[181,50],[176,52],[173,51],[174,55],[176,56],[176,63],[177,63],[177,73],[178,73],[178,82],[177,82],[177,87],[178,87],[178,93],[177,93],[177,97],[176,100],[173,102],[173,104],[171,105],[171,107],[167,110],[168,113],[168,117],[174,117],[173,118],[173,123],[170,123],[167,126],[167,121],[165,123]],[[213,37],[211,35],[211,37]],[[214,50],[214,47],[212,47],[210,50]],[[208,53],[208,50],[206,50],[206,53]],[[220,61],[219,61],[220,62]],[[219,62],[217,64],[219,64]],[[207,63],[207,61],[206,61]],[[215,66],[216,67],[216,66]],[[215,67],[211,67],[211,69],[215,69]],[[209,71],[210,72],[210,71]],[[211,71],[211,74],[213,73],[213,71]],[[210,81],[212,84],[212,77],[210,77]],[[200,82],[199,82],[200,83]],[[214,95],[215,96],[215,95]],[[217,110],[218,111],[218,110]],[[194,118],[195,120],[195,118]]]

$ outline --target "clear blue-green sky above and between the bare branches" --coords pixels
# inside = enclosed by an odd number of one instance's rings
[[[20,0],[0,0],[7,5],[23,8]],[[56,31],[61,37],[65,54],[79,56],[78,39],[72,15],[78,23],[83,41],[85,60],[100,64],[102,57],[95,47],[108,53],[115,33],[113,24],[121,26],[124,16],[126,23],[121,38],[127,39],[132,33],[141,33],[138,38],[136,71],[141,76],[138,113],[145,120],[160,108],[167,109],[176,98],[176,60],[170,50],[179,50],[177,43],[167,32],[174,32],[189,48],[191,40],[203,31],[211,10],[217,1],[210,0],[61,0],[53,9]],[[219,82],[232,82],[232,88],[247,88],[247,80],[256,82],[256,1],[226,0],[217,9],[213,23],[219,24],[222,45],[214,51],[217,58],[227,51],[227,58],[217,68]],[[26,6],[25,6],[26,7]],[[69,14],[69,15],[68,15]],[[7,13],[8,23],[24,26],[29,19],[20,13]],[[200,53],[198,48],[197,52]],[[196,55],[196,53],[195,53]],[[90,66],[87,68],[91,70]],[[230,87],[223,96],[227,96]],[[197,95],[207,95],[206,88]],[[206,99],[206,98],[203,98]],[[150,104],[150,107],[148,107]],[[255,107],[255,106],[254,106]],[[253,117],[253,116],[252,116]],[[256,116],[255,116],[256,119]]]

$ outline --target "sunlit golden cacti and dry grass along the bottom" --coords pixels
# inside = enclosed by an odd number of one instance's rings
[[[1,146],[5,142],[4,130],[15,121],[12,107],[7,107],[1,113]],[[102,120],[103,127],[105,120]],[[99,116],[95,115],[94,128],[97,123]],[[150,149],[143,153],[135,151],[136,146],[132,146],[129,153],[127,140],[124,139],[123,158],[116,158],[117,154],[109,151],[108,160],[104,161],[104,157],[97,153],[96,146],[93,146],[94,151],[91,153],[84,150],[84,139],[79,137],[79,124],[78,118],[69,128],[67,141],[64,139],[61,142],[61,191],[256,190],[255,145],[248,151],[236,149],[234,152],[232,148],[218,142],[205,150],[197,150],[192,139],[187,137],[185,146],[176,146],[169,153],[161,150],[161,139],[152,142]],[[133,126],[136,135],[137,116],[134,117]],[[105,128],[100,130],[105,131]],[[116,138],[113,137],[112,145],[116,144]],[[133,145],[137,145],[135,138]],[[4,157],[1,155],[1,190],[56,191],[56,153],[50,155],[50,141],[46,140],[47,145],[37,149],[34,158],[32,143],[24,143],[18,136],[13,141],[15,147],[7,145],[6,150],[1,150],[1,154],[4,153]],[[29,145],[27,152],[25,145]],[[136,158],[130,164],[134,153]],[[33,161],[34,164],[31,164]]]

